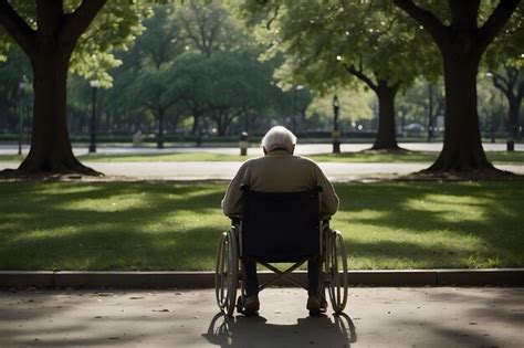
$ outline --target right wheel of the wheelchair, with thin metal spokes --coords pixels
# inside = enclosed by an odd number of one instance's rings
[[[332,231],[327,239],[326,281],[333,310],[340,314],[347,303],[347,254],[344,239],[339,231]]]

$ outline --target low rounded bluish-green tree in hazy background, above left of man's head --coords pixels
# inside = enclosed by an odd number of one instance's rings
[[[219,51],[210,57],[191,53],[174,63],[171,87],[180,91],[195,118],[193,126],[207,117],[223,136],[233,122],[242,120],[249,131],[255,118],[279,108],[283,92],[272,84],[270,62],[256,60],[259,52]],[[193,131],[199,130],[193,127]]]

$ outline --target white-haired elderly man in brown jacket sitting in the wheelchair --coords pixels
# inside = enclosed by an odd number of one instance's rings
[[[272,127],[262,138],[265,156],[245,161],[229,184],[222,200],[223,213],[228,217],[242,214],[241,184],[262,192],[300,192],[321,186],[321,213],[333,215],[338,209],[338,197],[333,186],[313,160],[293,156],[295,144],[296,137],[287,128]],[[317,260],[308,260],[306,308],[312,315],[319,314],[322,306],[318,285],[319,266]],[[253,315],[260,307],[256,263],[254,261],[245,261],[245,314]]]

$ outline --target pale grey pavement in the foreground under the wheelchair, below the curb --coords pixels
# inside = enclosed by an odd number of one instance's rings
[[[523,347],[524,288],[350,288],[345,315],[261,293],[259,317],[218,315],[210,289],[0,292],[0,346]]]

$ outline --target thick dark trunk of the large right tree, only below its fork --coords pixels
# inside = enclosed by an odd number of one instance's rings
[[[442,52],[446,82],[444,145],[427,171],[473,171],[493,169],[488,161],[479,130],[476,73],[480,53],[464,52],[461,44]]]

